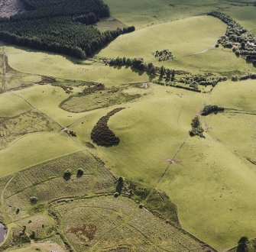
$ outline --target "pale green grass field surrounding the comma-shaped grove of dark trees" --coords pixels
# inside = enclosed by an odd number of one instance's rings
[[[167,160],[174,156],[187,136],[192,118],[203,107],[203,99],[198,93],[156,85],[148,92],[110,118],[109,128],[120,137],[121,143],[92,151],[102,157],[114,173],[153,186],[167,166]],[[112,109],[95,111],[75,124],[72,129],[78,139],[91,141],[94,124]]]

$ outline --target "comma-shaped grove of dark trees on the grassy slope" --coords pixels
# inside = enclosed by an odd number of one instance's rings
[[[108,121],[112,115],[115,115],[115,113],[121,111],[122,109],[124,108],[115,108],[107,115],[99,119],[91,133],[92,141],[95,144],[104,147],[112,147],[119,144],[120,139],[119,137],[116,137],[115,133],[109,129]]]

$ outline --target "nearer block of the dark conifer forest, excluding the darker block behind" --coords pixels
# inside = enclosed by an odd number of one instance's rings
[[[96,27],[73,21],[72,17],[0,23],[0,39],[5,42],[80,59],[91,56],[125,31],[118,29],[101,33]]]

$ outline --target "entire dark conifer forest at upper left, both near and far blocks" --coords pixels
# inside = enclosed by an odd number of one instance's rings
[[[109,17],[102,0],[22,0],[28,8],[0,20],[0,40],[84,59],[133,27],[100,32],[95,24]]]

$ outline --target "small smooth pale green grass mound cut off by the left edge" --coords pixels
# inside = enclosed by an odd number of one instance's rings
[[[31,106],[18,96],[9,92],[0,95],[0,117],[11,118],[28,110]]]

